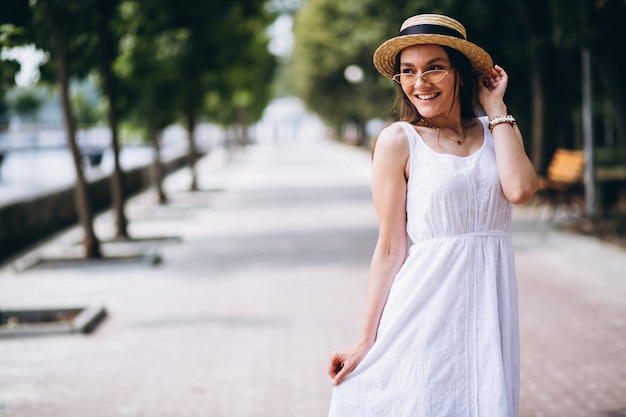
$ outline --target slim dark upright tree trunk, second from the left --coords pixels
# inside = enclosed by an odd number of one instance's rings
[[[108,0],[105,0],[108,1]],[[106,6],[104,6],[106,7]],[[103,7],[100,10],[106,10]],[[106,25],[110,20],[108,14],[102,13],[98,19],[98,37],[100,38],[100,73],[103,81],[103,92],[107,99],[107,117],[111,130],[111,148],[113,150],[113,173],[111,174],[111,201],[115,212],[115,237],[128,238],[128,219],[124,212],[126,195],[124,193],[123,171],[120,166],[119,123],[116,108],[117,90],[113,75],[114,39]]]

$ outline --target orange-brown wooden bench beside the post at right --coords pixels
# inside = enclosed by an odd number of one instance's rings
[[[553,215],[559,207],[581,210],[584,207],[584,166],[583,151],[557,148],[546,176],[539,177],[535,202],[548,205]]]

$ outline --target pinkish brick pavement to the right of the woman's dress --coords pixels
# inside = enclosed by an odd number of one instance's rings
[[[626,251],[518,210],[520,417],[626,416]]]

